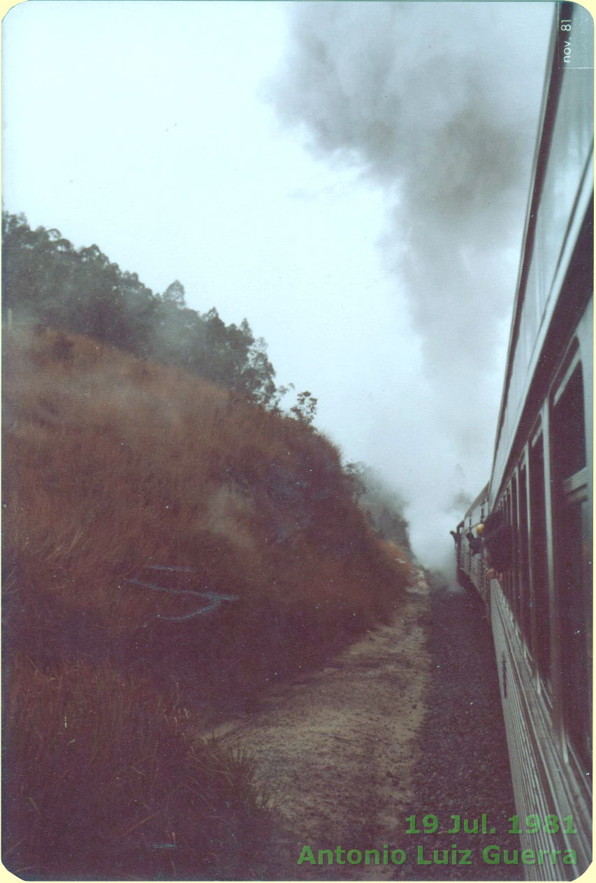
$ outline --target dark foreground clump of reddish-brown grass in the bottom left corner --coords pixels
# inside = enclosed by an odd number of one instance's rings
[[[251,758],[108,665],[19,656],[5,698],[4,864],[24,879],[221,879],[258,861]]]

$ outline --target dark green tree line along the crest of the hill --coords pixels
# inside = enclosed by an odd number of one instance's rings
[[[192,310],[178,280],[155,293],[97,245],[75,248],[59,230],[32,230],[25,215],[3,212],[2,232],[4,313],[10,308],[15,318],[93,336],[278,408],[288,390],[275,386],[267,343],[246,320],[226,325],[215,307]],[[290,410],[310,423],[315,407],[306,392]]]

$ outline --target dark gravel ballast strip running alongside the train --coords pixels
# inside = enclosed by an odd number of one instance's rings
[[[515,813],[509,758],[502,719],[493,638],[482,600],[472,591],[451,589],[428,578],[432,586],[427,614],[427,651],[432,676],[426,717],[420,731],[422,757],[415,771],[417,801],[411,813],[422,819],[432,813],[441,820],[434,834],[411,834],[408,849],[416,864],[397,869],[395,879],[523,879],[523,865],[485,864],[483,849],[494,845],[519,849],[517,836],[507,834]],[[495,834],[449,834],[452,815],[469,819],[487,816]],[[422,826],[419,825],[422,830]],[[472,850],[472,864],[417,863],[418,847],[432,860],[433,850]],[[463,857],[456,853],[456,861]],[[509,854],[510,857],[510,854]]]

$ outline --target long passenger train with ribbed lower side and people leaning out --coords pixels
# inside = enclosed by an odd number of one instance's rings
[[[487,604],[523,849],[592,861],[592,25],[556,4],[490,481],[457,525]],[[562,853],[560,853],[562,854]]]

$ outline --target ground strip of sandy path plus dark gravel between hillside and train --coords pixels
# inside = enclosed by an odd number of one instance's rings
[[[490,630],[466,592],[429,588],[419,571],[390,625],[370,630],[303,677],[272,685],[259,706],[216,730],[245,746],[275,802],[272,841],[251,879],[518,879],[487,865],[488,842],[515,812]],[[451,814],[490,814],[497,833],[449,834]],[[406,834],[406,819],[433,813],[432,835]],[[419,864],[433,849],[472,850],[472,864]],[[313,849],[403,849],[404,864],[298,865]],[[345,854],[343,855],[345,860]],[[327,861],[327,858],[325,859]]]

